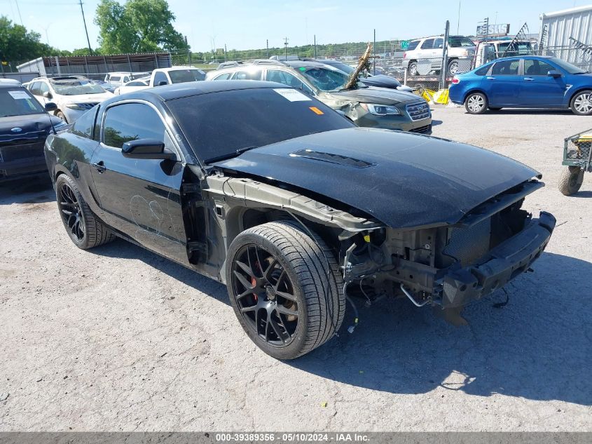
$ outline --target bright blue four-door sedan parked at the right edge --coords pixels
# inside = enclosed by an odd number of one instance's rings
[[[450,100],[469,114],[508,108],[571,108],[592,115],[592,74],[556,57],[522,56],[493,60],[454,76]]]

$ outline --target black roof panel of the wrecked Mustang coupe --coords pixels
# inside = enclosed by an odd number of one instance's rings
[[[259,80],[218,80],[218,81],[192,81],[185,83],[173,83],[172,85],[155,86],[154,88],[143,89],[132,93],[126,93],[124,99],[151,100],[158,97],[160,100],[174,100],[181,97],[202,95],[210,93],[221,93],[223,91],[261,89],[261,88],[290,88],[282,83]],[[118,102],[115,96],[106,103]]]

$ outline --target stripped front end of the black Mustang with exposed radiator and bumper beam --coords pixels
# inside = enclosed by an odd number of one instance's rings
[[[544,250],[555,218],[521,209],[542,187],[524,182],[482,203],[452,226],[383,228],[344,240],[345,281],[369,299],[408,297],[459,311],[530,269]]]

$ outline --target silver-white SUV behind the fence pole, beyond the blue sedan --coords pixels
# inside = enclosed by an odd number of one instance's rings
[[[443,36],[412,40],[403,53],[403,66],[406,67],[410,76],[426,75],[430,71],[441,71],[443,48]],[[463,59],[466,60],[466,70],[468,71],[475,49],[475,43],[469,37],[448,36],[448,75],[453,76],[459,72],[459,66]]]

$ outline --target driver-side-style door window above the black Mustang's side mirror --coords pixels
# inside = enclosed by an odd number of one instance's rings
[[[103,127],[103,143],[121,148],[125,142],[139,139],[156,139],[165,142],[165,124],[148,105],[125,103],[106,110]]]

